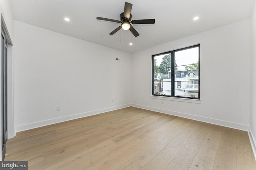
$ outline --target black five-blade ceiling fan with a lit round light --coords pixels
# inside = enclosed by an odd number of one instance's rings
[[[140,34],[134,29],[134,27],[131,25],[132,24],[154,24],[155,19],[148,19],[148,20],[132,20],[132,4],[125,2],[124,3],[124,12],[120,14],[120,21],[118,20],[112,20],[108,18],[102,18],[102,17],[97,17],[97,20],[104,20],[104,21],[111,21],[111,22],[117,22],[117,23],[122,23],[119,27],[114,29],[110,35],[113,35],[117,31],[119,31],[121,28],[124,30],[130,30],[132,34],[135,37],[138,37]]]

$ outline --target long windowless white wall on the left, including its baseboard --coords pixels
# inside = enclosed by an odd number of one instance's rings
[[[15,20],[14,42],[16,131],[130,106],[130,53]]]

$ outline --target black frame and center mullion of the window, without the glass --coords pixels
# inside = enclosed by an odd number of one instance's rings
[[[182,51],[186,49],[191,49],[198,47],[198,97],[184,97],[184,96],[174,96],[174,90],[175,90],[175,52]],[[159,55],[165,55],[165,54],[171,54],[171,95],[160,95],[160,94],[154,94],[154,57]],[[192,63],[191,63],[192,64]],[[173,81],[174,80],[174,81]],[[186,99],[198,99],[200,100],[200,44],[192,45],[189,47],[184,47],[172,51],[167,51],[164,53],[159,53],[156,55],[152,55],[152,96],[164,96],[164,97],[170,97],[170,98],[186,98]]]

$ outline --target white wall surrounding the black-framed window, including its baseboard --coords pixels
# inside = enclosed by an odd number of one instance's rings
[[[198,43],[200,104],[150,98],[151,55]],[[132,82],[132,106],[247,131],[250,123],[250,19],[133,53]]]

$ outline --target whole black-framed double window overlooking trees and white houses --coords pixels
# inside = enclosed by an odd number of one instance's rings
[[[152,56],[152,95],[200,99],[199,45]],[[162,75],[156,78],[155,75]],[[161,82],[161,89],[154,85]]]

